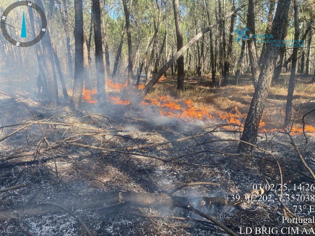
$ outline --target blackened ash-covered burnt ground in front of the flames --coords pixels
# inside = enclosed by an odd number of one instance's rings
[[[12,88],[12,87],[11,87]],[[157,108],[148,107],[144,112],[141,108],[126,105],[110,105],[99,107],[95,104],[83,104],[80,110],[71,110],[65,101],[61,101],[60,107],[47,108],[45,102],[39,101],[29,91],[19,89],[4,89],[2,92],[10,93],[19,98],[33,113],[36,120],[53,119],[55,121],[71,123],[91,114],[105,115],[111,123],[103,117],[96,121],[91,117],[82,119],[82,126],[99,128],[102,130],[121,130],[123,132],[109,132],[100,139],[79,136],[80,142],[89,145],[106,148],[121,148],[135,146],[135,144],[157,143],[167,140],[186,137],[194,133],[209,131],[209,126],[221,124],[221,120],[211,119],[206,121],[185,122],[177,118],[163,117],[159,115]],[[24,91],[24,92],[23,92]],[[28,92],[28,93],[26,93]],[[0,94],[1,120],[4,125],[25,123],[33,120],[26,107],[14,98]],[[53,118],[51,118],[53,117]],[[95,117],[95,116],[94,116]],[[93,120],[93,121],[92,121]],[[101,122],[102,121],[102,122]],[[84,123],[85,122],[85,123]],[[66,127],[60,125],[43,126],[50,143],[64,135]],[[15,131],[16,126],[6,127],[2,130],[0,138]],[[82,131],[77,128],[71,132]],[[199,130],[199,131],[198,131]],[[219,128],[218,130],[225,131]],[[56,131],[56,132],[55,132]],[[69,131],[65,135],[68,135]],[[113,136],[119,134],[121,136]],[[24,129],[0,143],[0,155],[20,153],[35,150],[38,142],[44,137],[38,126]],[[66,136],[65,136],[66,137]],[[301,154],[312,170],[315,167],[314,160],[314,136],[308,134],[309,144],[305,144],[302,135],[295,135],[294,141],[300,148]],[[182,142],[169,143],[154,148],[143,149],[137,153],[148,154],[164,159],[192,154],[198,151],[216,150],[226,153],[235,153],[237,142],[215,142],[196,145],[215,139],[238,139],[239,133],[215,132],[209,133],[195,140],[189,139]],[[265,134],[260,134],[258,146],[273,153],[282,164],[293,169],[308,172],[301,165],[290,139],[286,134],[268,133],[267,142]],[[43,144],[45,146],[45,144]],[[196,155],[186,155],[179,160],[185,163],[163,163],[152,158],[127,155],[123,153],[99,152],[78,146],[67,146],[55,149],[53,155],[59,178],[53,172],[54,161],[49,160],[41,164],[11,166],[3,168],[0,164],[0,189],[18,184],[27,184],[24,188],[0,192],[1,209],[28,207],[32,203],[54,201],[62,205],[65,199],[77,199],[81,196],[102,196],[103,192],[132,191],[142,193],[167,192],[182,183],[191,182],[215,182],[221,186],[197,185],[182,188],[175,195],[178,196],[207,196],[226,197],[228,194],[239,194],[252,189],[253,184],[263,184],[262,172],[254,158],[254,162],[245,157],[228,156],[218,153],[203,152]],[[255,150],[255,155],[271,158],[270,155]],[[38,154],[37,159],[51,157],[51,153]],[[33,160],[34,156],[12,159],[15,164],[22,161]],[[197,164],[197,165],[188,165]],[[279,179],[277,166],[268,161],[260,162],[269,182]],[[199,166],[198,166],[199,165]],[[207,165],[207,166],[201,166]],[[282,168],[283,176],[294,173]],[[308,179],[301,178],[302,183],[312,183]],[[36,195],[35,195],[36,194]],[[284,191],[283,194],[315,194],[315,191],[296,190]],[[35,197],[34,197],[35,195]],[[312,205],[311,201],[285,202],[291,211],[293,205]],[[163,215],[163,216],[187,216],[187,212],[179,208],[169,209],[146,208],[138,206],[119,206],[109,208],[104,212],[95,212],[89,209],[72,209],[80,216],[93,235],[227,235],[205,230],[202,227],[210,227],[193,221],[178,221],[173,219],[144,218],[130,214]],[[212,210],[212,207],[203,207],[202,211],[213,216],[235,232],[239,233],[240,227],[294,227],[301,225],[289,225],[282,223],[282,211],[276,202],[247,202],[238,208],[221,208]],[[309,212],[303,210],[296,213],[298,216],[308,216]],[[311,216],[314,213],[311,213]],[[202,217],[189,213],[189,217],[202,219]],[[77,220],[64,211],[56,214],[44,214],[37,217],[23,217],[21,219],[26,229],[36,235],[85,235],[84,229]],[[185,228],[186,227],[186,228]],[[187,228],[190,227],[190,228]],[[18,222],[7,220],[0,222],[0,235],[26,235],[19,227]],[[281,233],[277,235],[282,235]],[[291,235],[291,234],[286,234]],[[293,235],[293,234],[292,234]]]

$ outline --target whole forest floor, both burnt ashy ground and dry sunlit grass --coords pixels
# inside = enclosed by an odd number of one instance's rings
[[[288,75],[282,75],[282,78],[280,85],[271,87],[262,118],[262,121],[265,122],[261,127],[262,130],[264,128],[266,130],[281,129],[287,93],[287,84],[284,81],[288,80]],[[105,118],[102,119],[102,128],[120,130],[122,132],[119,134],[124,136],[113,136],[113,133],[106,135],[101,142],[107,148],[135,146],[135,142],[137,144],[163,142],[183,138],[196,132],[208,131],[211,129],[207,128],[209,126],[213,128],[217,124],[242,121],[254,92],[249,76],[242,76],[238,87],[229,85],[220,88],[211,86],[209,76],[189,76],[186,78],[186,90],[179,93],[175,88],[176,77],[167,76],[165,80],[158,82],[154,90],[146,96],[144,103],[150,105],[140,103],[137,106],[129,106],[108,102],[108,104],[99,107],[97,104],[83,101],[80,110],[71,110],[68,107],[69,101],[60,99],[59,107],[50,108],[45,102],[38,99],[34,95],[34,87],[30,86],[36,82],[35,74],[25,78],[2,73],[0,81],[3,85],[0,91],[19,98],[38,120],[45,120],[54,116],[57,121],[69,123],[86,115],[105,115],[111,123]],[[308,84],[310,78],[305,76],[297,76],[296,81],[294,109],[299,128],[301,127],[301,115],[314,107],[315,85]],[[111,92],[112,96],[115,94],[114,91]],[[121,100],[129,99],[123,90],[115,96]],[[61,94],[60,97],[62,97]],[[191,102],[185,102],[188,100]],[[178,105],[180,105],[180,109]],[[238,112],[235,109],[236,106]],[[172,109],[173,107],[175,108]],[[191,110],[199,114],[199,118],[192,118],[192,114],[188,112]],[[23,104],[3,94],[0,94],[0,111],[3,125],[18,124],[33,119]],[[200,114],[201,112],[202,114]],[[314,116],[310,116],[306,122],[314,127]],[[83,124],[83,126],[92,125],[94,124]],[[100,125],[97,123],[95,126],[99,127]],[[0,138],[15,130],[15,127],[3,129]],[[63,136],[63,130],[54,132],[54,127],[47,126],[45,131],[52,140]],[[228,130],[225,132],[224,129],[221,131],[209,133],[196,140],[169,143],[141,151],[142,154],[154,155],[168,160],[178,157],[186,164],[163,163],[143,156],[121,153],[100,154],[92,149],[68,146],[54,150],[59,174],[58,181],[54,173],[53,160],[43,161],[41,164],[22,165],[19,166],[20,168],[2,162],[0,163],[0,188],[8,188],[23,183],[28,186],[3,192],[0,195],[0,208],[27,207],[31,203],[50,200],[63,204],[65,199],[70,198],[75,201],[82,196],[102,196],[102,192],[110,191],[163,193],[182,183],[200,181],[220,183],[221,186],[190,186],[181,189],[175,195],[225,197],[227,194],[237,194],[249,190],[254,183],[264,183],[259,167],[244,157],[226,156],[211,152],[192,154],[200,150],[234,153],[237,149],[237,142],[206,143],[202,147],[196,145],[196,141],[202,143],[212,139],[239,138],[237,132],[228,132]],[[299,132],[296,132],[294,139],[299,145],[303,157],[314,169],[315,150],[312,145],[314,136],[312,133],[307,133],[307,135],[311,145],[305,144],[305,138]],[[41,138],[42,133],[38,127],[22,130],[0,143],[1,156],[34,150]],[[82,142],[89,145],[99,145],[100,143],[99,140],[91,137],[82,137]],[[290,145],[287,135],[267,132],[265,136],[261,132],[258,145],[275,154],[282,163],[303,171],[303,166],[296,164],[298,157]],[[261,157],[269,157],[261,151],[255,151],[255,153]],[[38,154],[36,158],[47,158],[49,155],[49,152]],[[35,160],[35,158],[25,156],[12,159],[15,164],[31,160]],[[264,160],[260,164],[265,169],[266,178],[269,181],[279,179],[276,164]],[[290,170],[282,169],[283,176],[290,173]],[[284,191],[284,194],[287,193]],[[297,191],[296,194],[298,193],[301,192]],[[311,194],[311,192],[304,190],[303,193]],[[34,194],[36,195],[34,196]],[[30,203],[28,203],[29,201]],[[286,203],[291,209],[294,204]],[[238,208],[222,208],[213,211],[211,207],[205,207],[202,210],[238,233],[239,227],[286,226],[282,224],[281,208],[277,203],[248,202]],[[136,214],[187,216],[186,211],[177,208],[161,207],[156,209],[119,206],[102,212],[91,209],[74,209],[74,211],[84,220],[93,235],[227,235],[209,231],[212,226],[200,222],[148,219],[135,216]],[[189,217],[202,219],[193,213],[190,213]],[[66,212],[24,217],[22,223],[29,231],[37,235],[85,235],[85,231],[76,219]],[[208,227],[208,229],[203,227]],[[15,221],[0,222],[1,236],[23,235],[23,233]]]

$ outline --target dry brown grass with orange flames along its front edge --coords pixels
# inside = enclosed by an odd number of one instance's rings
[[[221,119],[229,124],[241,125],[246,119],[254,88],[249,79],[244,76],[239,86],[229,85],[220,88],[205,86],[205,77],[192,77],[186,80],[186,90],[178,92],[174,86],[175,77],[159,79],[154,90],[141,102],[142,106],[152,105],[157,107],[159,113],[167,117],[175,117],[185,121]],[[108,82],[109,87],[117,93],[117,96],[109,96],[107,102],[119,105],[129,105],[130,101],[120,94],[127,87],[127,83]],[[139,84],[139,89],[144,88],[144,83]],[[133,86],[135,88],[135,86]],[[69,90],[72,93],[71,90]],[[92,91],[83,88],[83,101],[96,103],[96,89]],[[287,88],[283,85],[274,85],[270,89],[267,105],[260,121],[261,132],[282,131],[284,119],[285,98]],[[315,85],[305,84],[299,81],[295,89],[295,116],[301,115],[307,110],[303,109],[303,103],[315,99]],[[146,110],[146,108],[143,108]],[[276,122],[275,122],[276,121]],[[307,132],[315,133],[315,128],[308,124]],[[301,134],[302,126],[292,127],[292,135]]]

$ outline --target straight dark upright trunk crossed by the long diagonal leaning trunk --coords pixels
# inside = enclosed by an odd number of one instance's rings
[[[175,28],[176,28],[176,41],[177,52],[183,47],[183,34],[180,25],[180,9],[179,0],[173,0]],[[177,89],[184,90],[184,55],[177,59]]]

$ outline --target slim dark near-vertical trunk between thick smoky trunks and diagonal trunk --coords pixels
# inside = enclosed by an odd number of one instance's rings
[[[131,8],[131,5],[132,5],[132,0],[129,0],[129,8]],[[130,29],[129,10],[127,8],[126,0],[123,0],[123,10],[125,12],[125,18],[126,18],[127,41],[128,41],[128,84],[129,84],[129,87],[132,87],[133,65],[132,65],[131,29]]]

